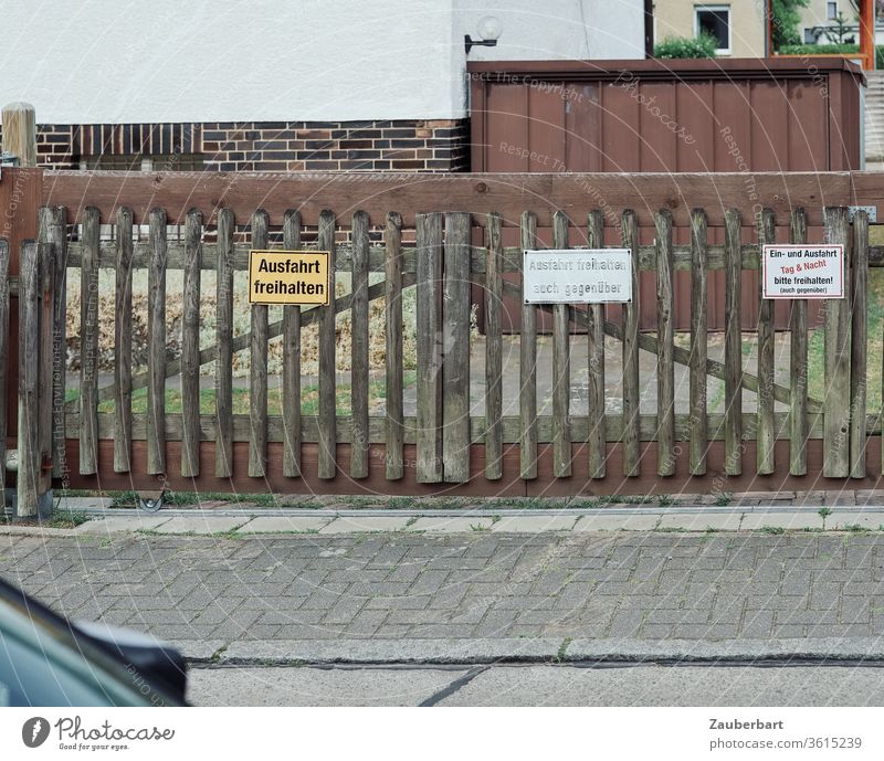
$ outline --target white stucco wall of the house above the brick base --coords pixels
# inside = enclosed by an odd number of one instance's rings
[[[0,0],[0,103],[44,124],[457,118],[471,60],[642,57],[641,0]],[[604,11],[604,12],[602,12]],[[586,21],[586,27],[583,25]]]

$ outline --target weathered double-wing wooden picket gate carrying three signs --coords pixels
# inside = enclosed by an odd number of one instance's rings
[[[65,320],[70,288],[54,302],[54,324],[76,334],[56,331],[52,357],[52,399],[65,400],[52,425],[56,483],[513,496],[873,486],[881,425],[866,415],[867,309],[859,307],[867,265],[884,257],[870,246],[866,213],[851,221],[848,204],[876,209],[875,178],[753,180],[749,195],[743,175],[44,172],[46,261],[59,263],[56,282],[66,271],[80,286],[74,319]],[[678,229],[690,245],[673,244]],[[476,230],[483,246],[471,244]],[[724,244],[707,242],[715,230]],[[513,234],[520,244],[504,245]],[[538,240],[630,249],[634,277],[649,271],[656,279],[656,330],[639,330],[634,300],[525,306],[522,334],[504,336],[502,299],[520,298],[504,275],[519,271],[523,249]],[[760,302],[757,343],[747,342],[741,271],[757,268],[759,245],[775,241],[844,244],[851,293],[827,302],[821,325],[809,326],[807,303],[793,302],[788,342],[775,334],[772,303]],[[337,296],[273,319],[252,306],[249,328],[234,329],[244,320],[235,293],[251,247],[333,251]],[[706,332],[716,269],[727,282],[720,351]],[[674,330],[677,271],[691,273],[690,335]],[[484,339],[471,330],[473,285],[484,288]],[[200,307],[210,296],[207,317]],[[168,329],[173,297],[180,339],[177,326]],[[551,315],[549,339],[537,336],[539,311]],[[370,356],[379,336],[382,350]],[[824,345],[822,384],[808,374],[809,337],[811,364]],[[777,347],[785,360],[775,359]],[[343,353],[349,371],[338,367]],[[302,366],[314,359],[315,370]],[[67,384],[65,361],[76,368]],[[201,374],[209,362],[213,372]],[[248,366],[248,380],[234,378],[234,364]],[[50,415],[52,406],[33,409]]]

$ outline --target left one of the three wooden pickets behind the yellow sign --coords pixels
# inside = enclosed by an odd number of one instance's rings
[[[267,247],[270,218],[259,209],[252,214],[252,249]],[[249,475],[261,478],[267,474],[267,306],[253,304],[252,337],[249,341]]]

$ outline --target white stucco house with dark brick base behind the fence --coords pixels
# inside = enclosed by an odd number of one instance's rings
[[[469,168],[467,57],[645,56],[643,0],[245,10],[0,0],[15,30],[0,47],[0,103],[35,106],[39,161],[56,168],[457,171]],[[487,15],[496,45],[467,53]]]

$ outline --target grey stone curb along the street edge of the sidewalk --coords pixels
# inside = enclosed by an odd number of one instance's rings
[[[884,660],[884,638],[821,640],[297,640],[234,642],[227,665]]]

